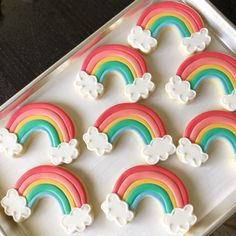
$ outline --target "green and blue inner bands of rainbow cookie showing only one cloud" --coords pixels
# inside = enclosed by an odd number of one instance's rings
[[[226,140],[228,140],[231,143],[234,149],[234,152],[236,153],[236,135],[234,135],[233,132],[225,128],[214,128],[207,131],[202,137],[201,141],[199,142],[199,145],[201,146],[203,151],[206,152],[210,142],[213,139],[216,139],[219,137],[225,138]]]

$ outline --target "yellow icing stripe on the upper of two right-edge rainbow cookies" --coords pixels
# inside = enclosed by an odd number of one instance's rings
[[[224,67],[220,65],[215,65],[215,64],[207,64],[207,65],[198,67],[196,70],[192,71],[191,74],[188,75],[186,80],[191,81],[197,73],[205,69],[217,69],[219,71],[222,71],[224,74],[227,75],[233,87],[236,88],[236,78],[227,69],[225,69]]]

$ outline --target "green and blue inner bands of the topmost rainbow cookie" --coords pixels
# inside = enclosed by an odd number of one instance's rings
[[[175,26],[179,30],[182,37],[191,36],[191,32],[188,30],[188,27],[185,25],[185,23],[182,20],[178,19],[175,16],[163,16],[157,19],[149,28],[149,30],[151,31],[152,37],[154,38],[157,37],[157,34],[161,30],[161,28],[164,28],[170,25]]]

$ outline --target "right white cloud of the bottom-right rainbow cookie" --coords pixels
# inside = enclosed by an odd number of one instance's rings
[[[193,206],[188,204],[184,208],[175,208],[170,214],[166,214],[164,222],[170,232],[184,235],[197,222],[197,217],[193,214]]]

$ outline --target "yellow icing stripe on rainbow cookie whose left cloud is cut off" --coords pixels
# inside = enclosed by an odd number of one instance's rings
[[[63,140],[64,140],[63,135],[62,135],[62,132],[61,132],[59,126],[57,125],[57,123],[53,119],[49,118],[48,116],[44,116],[44,115],[36,115],[36,116],[30,116],[30,117],[25,118],[16,126],[14,133],[17,134],[19,132],[19,130],[22,128],[22,126],[24,126],[26,123],[28,123],[31,120],[46,120],[46,121],[48,121],[56,129],[58,136],[60,138],[60,141],[63,142]]]

